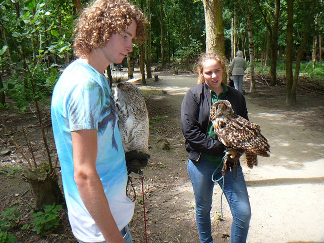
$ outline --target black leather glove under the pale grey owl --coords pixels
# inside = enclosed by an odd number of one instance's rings
[[[142,174],[141,169],[144,169],[144,167],[147,166],[150,157],[150,155],[137,150],[126,152],[125,159],[127,174],[131,174],[132,172],[136,174]]]

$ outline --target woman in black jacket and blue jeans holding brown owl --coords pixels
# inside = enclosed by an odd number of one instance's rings
[[[188,173],[196,201],[196,223],[200,242],[213,242],[210,211],[215,181],[222,176],[222,158],[226,147],[217,139],[209,121],[210,107],[219,100],[228,100],[236,114],[248,119],[245,98],[241,92],[225,85],[226,59],[214,53],[202,55],[196,65],[198,85],[191,87],[181,104],[181,128],[188,151]],[[233,223],[231,242],[246,242],[251,219],[249,195],[242,167],[234,168],[239,156],[231,158],[223,193],[230,206]],[[222,187],[222,186],[221,186]]]

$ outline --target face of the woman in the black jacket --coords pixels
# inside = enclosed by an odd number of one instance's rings
[[[207,86],[217,95],[222,91],[223,69],[219,61],[207,59],[203,64],[203,76]]]

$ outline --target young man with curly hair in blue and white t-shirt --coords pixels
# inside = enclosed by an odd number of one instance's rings
[[[134,204],[118,116],[104,70],[133,51],[146,19],[126,0],[97,0],[74,31],[72,62],[54,87],[51,116],[72,231],[82,243],[132,242]]]

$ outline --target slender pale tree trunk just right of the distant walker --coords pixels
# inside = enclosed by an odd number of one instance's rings
[[[256,89],[256,78],[254,72],[254,42],[252,33],[252,0],[249,0],[248,34],[249,34],[249,54],[250,54],[250,92]]]

